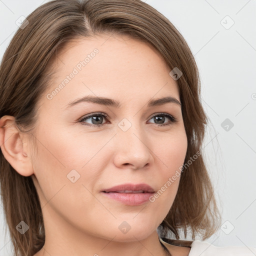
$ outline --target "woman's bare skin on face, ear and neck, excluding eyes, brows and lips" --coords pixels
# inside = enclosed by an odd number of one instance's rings
[[[46,97],[72,72],[84,56],[99,52],[52,99]],[[35,255],[166,255],[156,232],[168,213],[179,177],[154,202],[131,206],[105,197],[100,191],[126,182],[147,183],[158,191],[183,164],[187,149],[181,107],[173,102],[147,107],[151,98],[166,95],[178,101],[170,68],[151,46],[128,36],[98,35],[77,39],[59,51],[53,64],[57,72],[51,88],[38,102],[38,119],[31,137],[13,125],[13,116],[0,119],[0,144],[4,157],[24,176],[32,175],[39,195],[45,244]],[[121,107],[91,102],[66,105],[85,95],[119,100]],[[103,112],[101,127],[90,127]],[[157,126],[154,116],[168,117]],[[127,131],[118,123],[126,118]],[[125,124],[126,125],[126,124]],[[4,126],[4,127],[3,127]],[[68,173],[80,178],[72,183]],[[118,226],[126,221],[130,229]],[[188,255],[190,248],[165,243],[173,256]]]

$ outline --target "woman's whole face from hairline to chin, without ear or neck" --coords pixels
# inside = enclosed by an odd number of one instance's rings
[[[37,152],[30,152],[46,232],[147,237],[172,205],[187,148],[180,104],[148,106],[163,97],[180,102],[171,70],[147,44],[109,35],[69,43],[54,69],[38,102]],[[103,192],[125,183],[160,192]]]

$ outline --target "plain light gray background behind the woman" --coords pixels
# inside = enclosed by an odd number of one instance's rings
[[[256,1],[144,1],[181,32],[199,68],[202,103],[211,120],[205,157],[223,223],[207,241],[256,247]],[[0,59],[17,30],[15,21],[41,4],[0,0]],[[226,118],[234,124],[228,130],[222,127],[226,123],[221,126]],[[0,255],[11,255],[4,227],[0,206]]]

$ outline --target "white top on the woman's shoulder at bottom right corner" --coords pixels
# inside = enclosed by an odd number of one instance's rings
[[[214,246],[209,242],[194,240],[188,256],[256,256],[256,248],[244,246]]]

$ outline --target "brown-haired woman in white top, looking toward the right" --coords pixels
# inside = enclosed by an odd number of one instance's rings
[[[185,40],[144,2],[54,0],[28,15],[0,66],[15,255],[216,252],[194,240],[220,225],[199,88]]]

